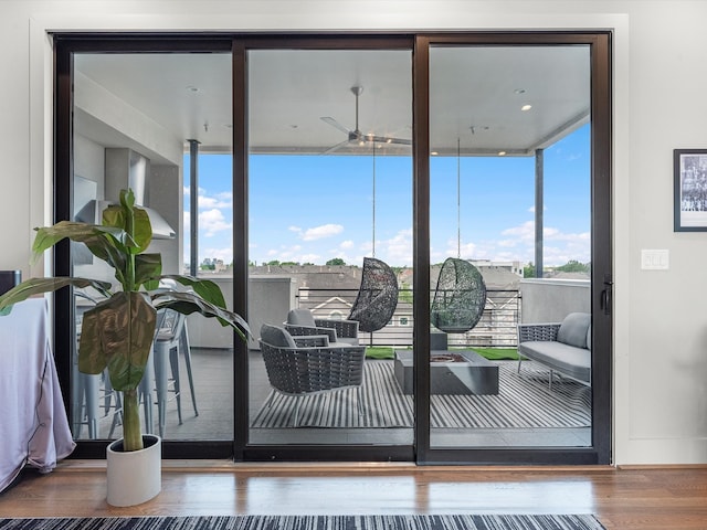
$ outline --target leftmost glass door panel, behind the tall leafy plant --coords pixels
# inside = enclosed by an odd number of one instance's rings
[[[190,219],[197,219],[197,274],[215,279],[229,298],[231,55],[76,53],[73,78],[74,219],[101,223],[105,204],[131,188],[137,204],[151,211],[149,250],[161,254],[162,274],[189,274]],[[194,160],[201,176],[192,188],[194,153],[204,159]],[[72,266],[74,276],[115,284],[109,267],[80,246],[72,247]],[[78,338],[82,314],[101,298],[77,290],[74,299]],[[143,389],[145,431],[165,439],[233,439],[232,332],[190,316],[177,339],[166,362],[149,363],[156,372]],[[158,384],[160,374],[167,385]],[[71,388],[76,439],[122,436],[120,395],[105,374],[82,374],[74,363]]]

